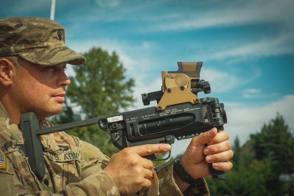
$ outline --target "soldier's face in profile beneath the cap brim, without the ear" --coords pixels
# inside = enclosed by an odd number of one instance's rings
[[[34,112],[39,119],[56,115],[62,110],[65,87],[70,84],[64,73],[66,63],[57,66],[22,65],[14,80],[15,95],[21,113]]]

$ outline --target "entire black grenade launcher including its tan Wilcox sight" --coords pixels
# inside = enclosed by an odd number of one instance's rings
[[[223,103],[217,98],[197,96],[201,91],[205,94],[211,92],[210,84],[200,80],[201,66],[202,62],[178,62],[178,71],[161,71],[161,91],[142,94],[144,105],[156,100],[157,106],[42,129],[35,113],[21,115],[23,149],[32,171],[39,179],[45,176],[40,138],[44,134],[98,124],[102,130],[110,131],[113,145],[122,150],[144,144],[172,144],[175,138],[193,138],[214,127],[223,130],[227,123]],[[170,156],[171,152],[161,160]],[[160,160],[154,154],[145,158]],[[212,164],[210,173],[213,178],[225,180],[225,172],[213,169]]]

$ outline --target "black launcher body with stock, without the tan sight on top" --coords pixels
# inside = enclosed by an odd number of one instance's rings
[[[31,112],[21,115],[20,128],[25,139],[24,152],[29,158],[31,169],[43,178],[45,168],[40,135],[98,124],[101,129],[110,131],[113,145],[122,150],[144,144],[172,144],[175,138],[192,138],[213,127],[218,131],[223,130],[224,123],[226,113],[223,103],[219,103],[217,98],[201,98],[199,104],[181,103],[167,106],[161,111],[157,111],[154,106],[43,129],[39,128],[38,118]],[[169,157],[170,154],[166,159]],[[154,154],[145,158],[158,160]],[[215,178],[221,178],[222,175],[224,172]]]

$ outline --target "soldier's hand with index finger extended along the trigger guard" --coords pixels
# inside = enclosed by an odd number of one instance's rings
[[[165,153],[171,150],[168,144],[148,144],[124,148],[111,156],[104,171],[108,172],[116,183],[120,195],[131,195],[151,186],[152,161],[142,158],[153,153]]]

